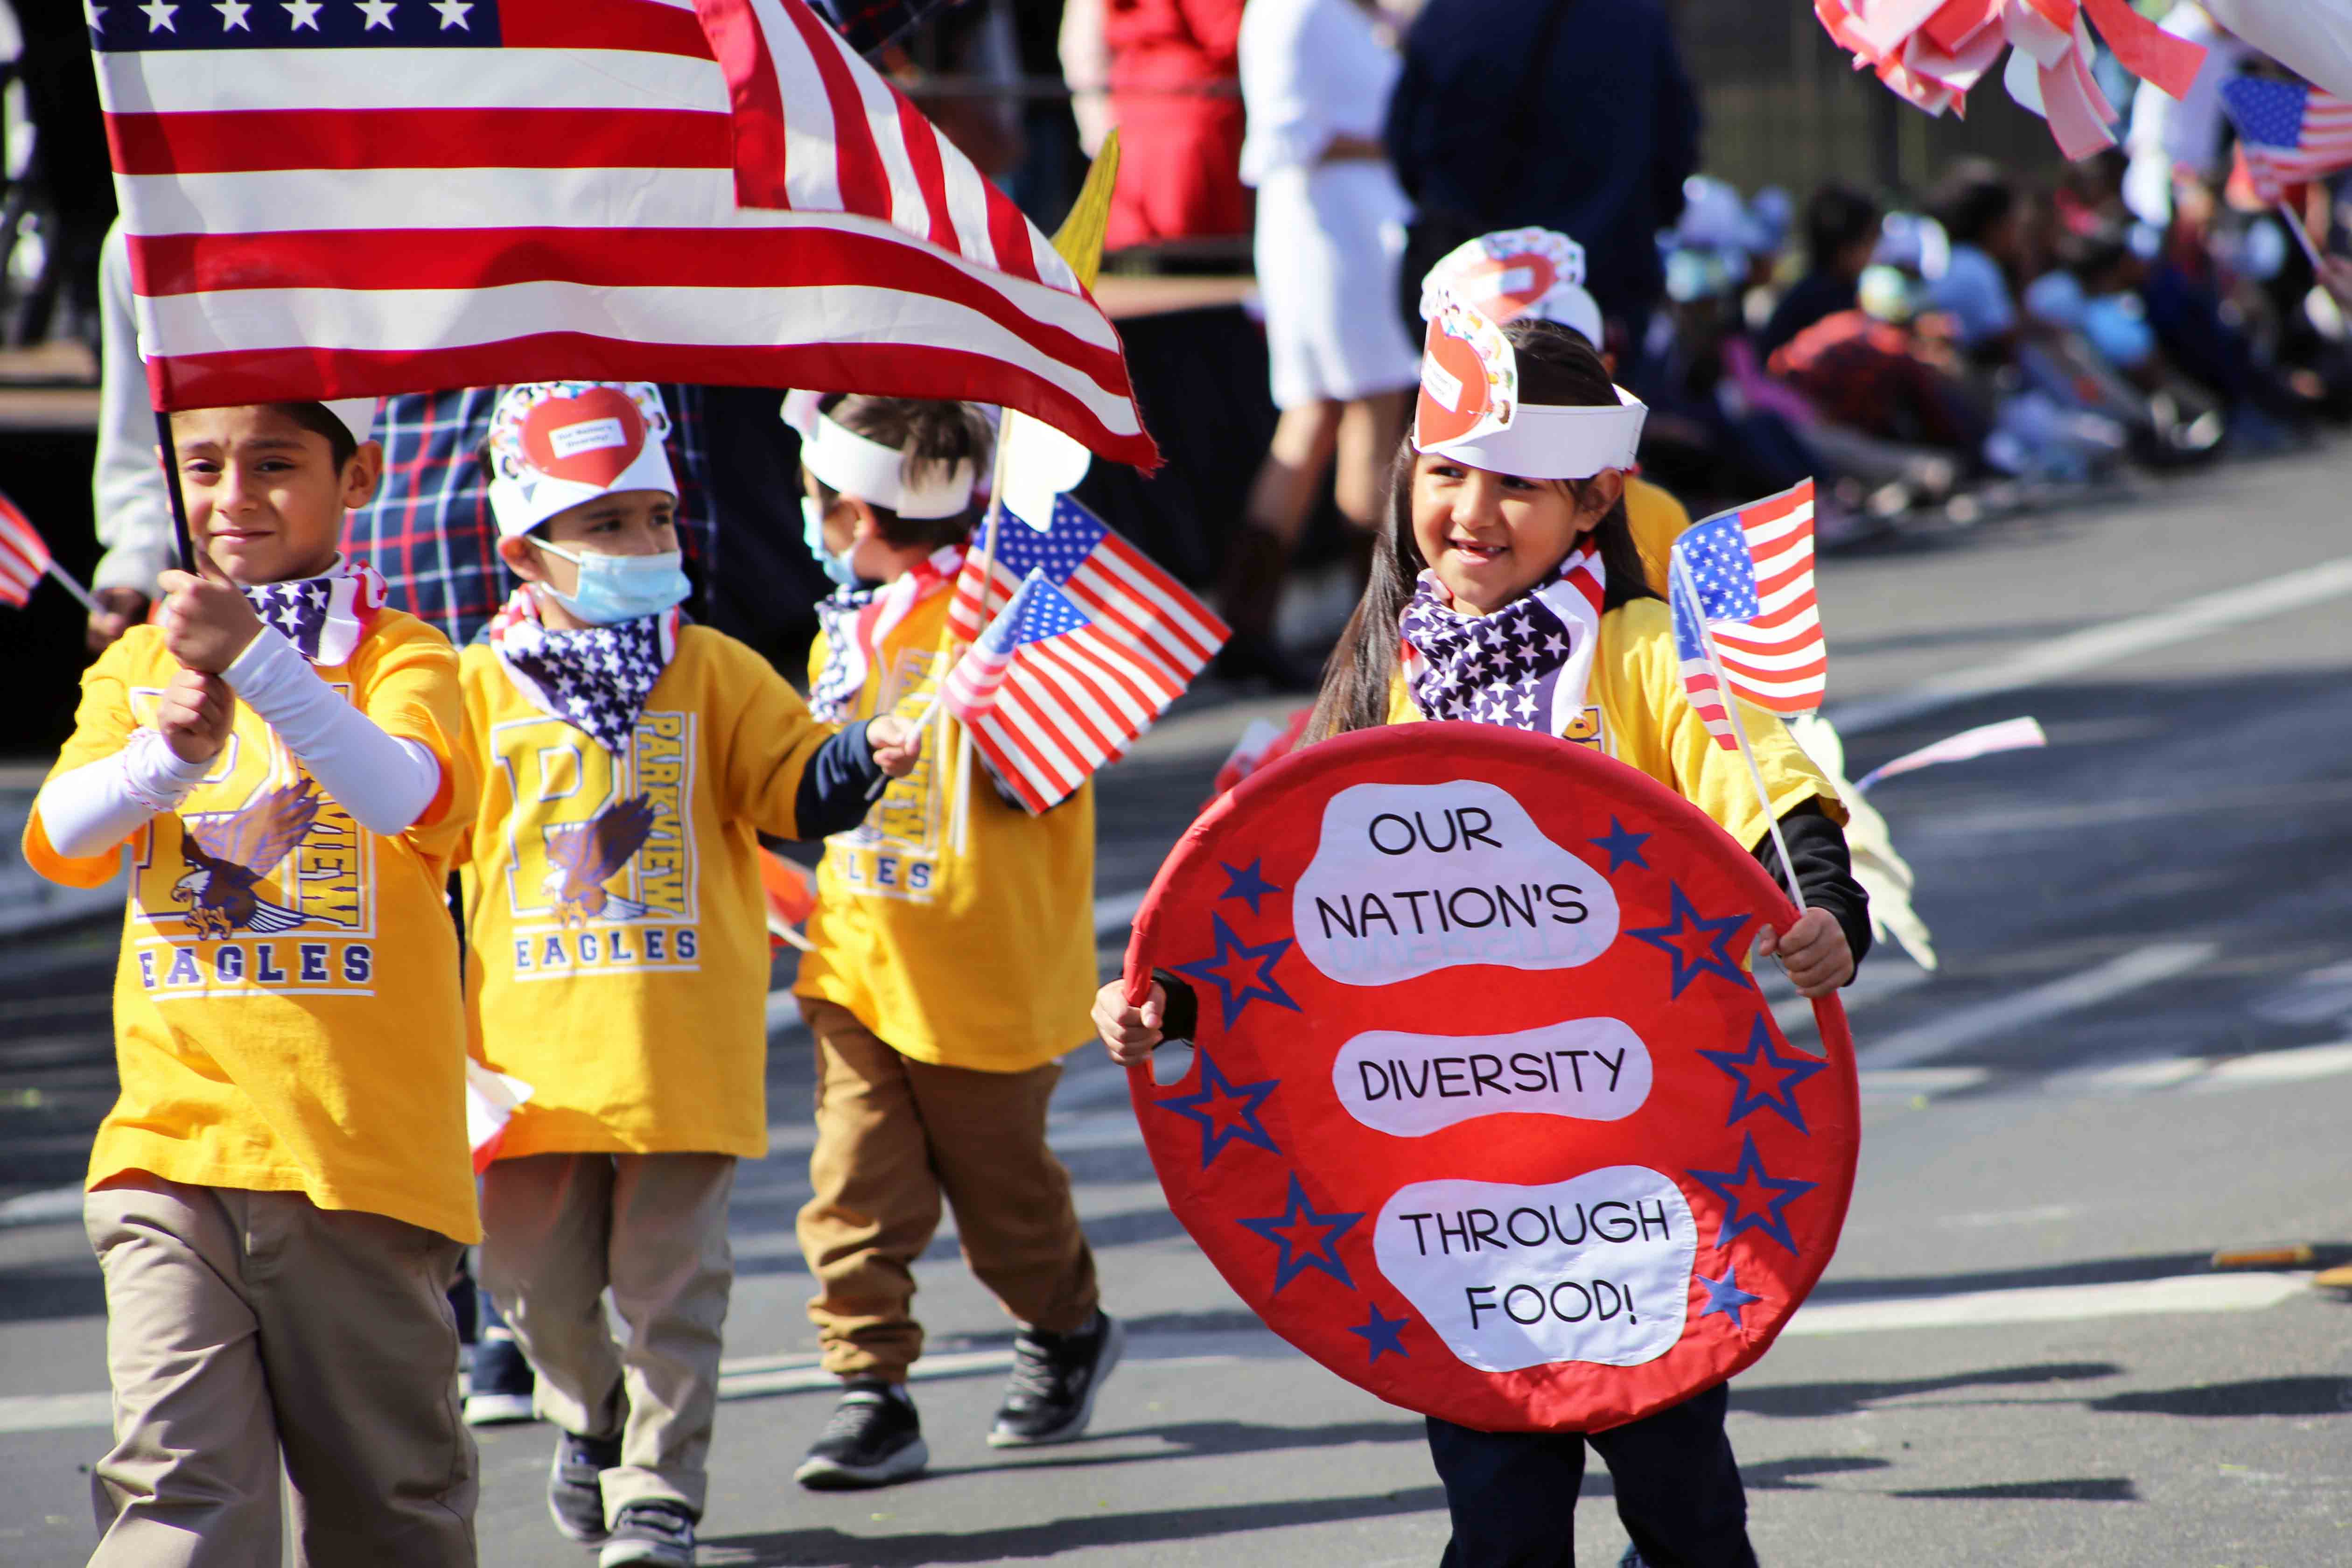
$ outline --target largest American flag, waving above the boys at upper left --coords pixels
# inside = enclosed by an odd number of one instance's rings
[[[85,9],[158,407],[800,386],[1157,461],[1070,266],[804,0]]]

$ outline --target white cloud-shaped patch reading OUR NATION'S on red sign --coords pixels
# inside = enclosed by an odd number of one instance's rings
[[[1576,969],[1618,933],[1609,877],[1475,778],[1334,795],[1291,919],[1298,952],[1341,985],[1458,964]]]

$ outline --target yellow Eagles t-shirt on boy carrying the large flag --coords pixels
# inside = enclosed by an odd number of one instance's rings
[[[56,773],[153,724],[176,670],[151,625],[106,649],[82,675]],[[89,1185],[148,1171],[200,1187],[301,1192],[320,1208],[365,1208],[475,1241],[466,1018],[442,893],[475,797],[459,745],[456,651],[423,621],[386,609],[320,677],[386,733],[430,750],[442,788],[414,827],[372,835],[238,705],[214,771],[176,816],[153,818],[125,846],[122,1095],[99,1126]],[[99,886],[122,849],[68,860],[35,811],[24,856],[54,882]]]

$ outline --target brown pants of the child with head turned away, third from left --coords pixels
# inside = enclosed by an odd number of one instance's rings
[[[816,1197],[800,1251],[816,1274],[809,1319],[840,1378],[903,1382],[922,1354],[915,1260],[955,1208],[964,1262],[1016,1321],[1070,1333],[1094,1319],[1094,1251],[1070,1173],[1044,1145],[1061,1063],[974,1072],[898,1056],[833,1001],[800,999],[816,1034]]]

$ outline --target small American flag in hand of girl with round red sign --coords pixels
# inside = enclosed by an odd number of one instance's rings
[[[1738,736],[1700,628],[1715,630],[1733,696],[1771,712],[1820,708],[1830,654],[1813,595],[1813,482],[1686,529],[1668,599],[1684,691],[1717,745]]]

